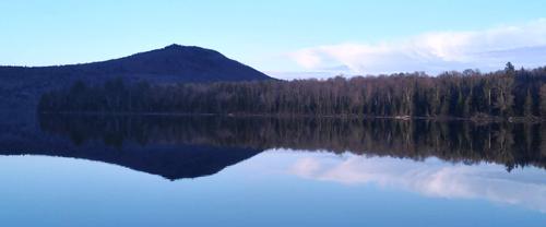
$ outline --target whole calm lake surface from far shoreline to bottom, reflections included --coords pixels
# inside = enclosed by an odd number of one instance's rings
[[[0,226],[546,226],[546,126],[38,116]]]

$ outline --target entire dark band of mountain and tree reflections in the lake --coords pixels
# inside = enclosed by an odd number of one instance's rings
[[[214,175],[272,148],[363,158],[437,157],[466,165],[487,162],[509,171],[546,167],[543,124],[81,115],[38,115],[37,127],[14,122],[0,122],[0,155],[83,158],[170,180]]]

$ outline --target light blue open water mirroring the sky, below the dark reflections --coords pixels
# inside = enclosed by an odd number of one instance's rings
[[[546,171],[268,150],[168,180],[100,162],[0,156],[0,226],[546,226]]]

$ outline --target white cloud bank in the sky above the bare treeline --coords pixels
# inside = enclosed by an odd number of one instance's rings
[[[307,70],[346,65],[349,73],[447,70],[497,70],[546,64],[546,20],[485,31],[434,32],[377,44],[349,43],[310,47],[290,58]]]

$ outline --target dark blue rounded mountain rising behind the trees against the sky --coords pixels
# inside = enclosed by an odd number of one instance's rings
[[[46,91],[76,80],[103,83],[111,77],[150,83],[239,82],[272,80],[222,53],[193,46],[170,45],[129,57],[68,65],[0,67],[0,110],[36,106]]]

